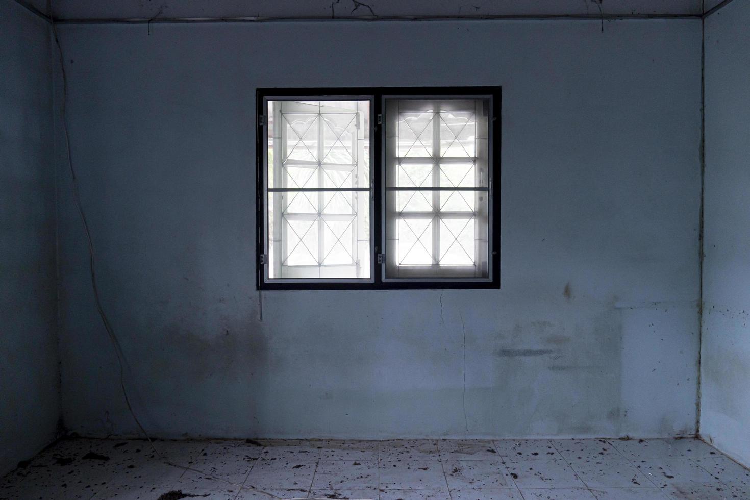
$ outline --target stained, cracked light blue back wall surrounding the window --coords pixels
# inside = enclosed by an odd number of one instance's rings
[[[694,433],[700,20],[61,29],[102,299],[154,435]],[[502,289],[268,292],[259,322],[255,88],[348,85],[502,85]],[[134,434],[58,172],[65,424]]]

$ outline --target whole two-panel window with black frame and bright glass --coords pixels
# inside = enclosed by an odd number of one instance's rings
[[[257,103],[259,288],[499,287],[499,88]]]

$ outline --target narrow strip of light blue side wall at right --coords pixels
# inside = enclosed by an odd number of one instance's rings
[[[750,1],[706,18],[700,433],[750,465]]]

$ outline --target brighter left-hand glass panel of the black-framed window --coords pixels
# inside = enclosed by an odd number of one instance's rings
[[[371,277],[370,105],[269,101],[267,279]]]

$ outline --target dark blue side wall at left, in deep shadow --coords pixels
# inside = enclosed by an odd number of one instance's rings
[[[55,439],[60,411],[49,26],[0,2],[0,474]]]

